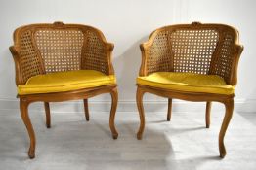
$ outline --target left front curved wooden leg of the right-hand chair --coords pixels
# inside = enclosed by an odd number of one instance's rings
[[[144,108],[143,108],[143,95],[144,95],[144,91],[138,87],[137,88],[137,93],[136,93],[136,102],[137,102],[137,107],[138,107],[138,111],[140,114],[140,127],[139,130],[137,132],[137,139],[142,139],[143,136],[143,132],[144,132],[144,127],[145,127],[145,115],[144,115]]]

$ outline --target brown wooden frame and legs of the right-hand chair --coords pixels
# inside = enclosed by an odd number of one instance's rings
[[[146,43],[141,44],[140,48],[142,51],[142,64],[140,68],[140,76],[147,76],[147,61],[148,61],[148,55],[147,55],[147,49],[150,48],[150,46],[153,43],[154,37],[157,35],[157,33],[165,28],[173,27],[174,29],[179,27],[190,27],[192,29],[199,29],[200,26],[203,27],[206,26],[220,26],[220,27],[229,27],[228,25],[222,25],[222,24],[201,24],[199,22],[192,22],[192,24],[181,24],[181,25],[171,25],[159,28],[155,30],[149,37],[149,41]],[[235,28],[232,28],[235,30]],[[236,31],[236,30],[235,30]],[[238,33],[237,33],[238,34]],[[238,35],[236,35],[238,36]],[[235,37],[235,40],[237,41],[237,37]],[[238,65],[238,59],[243,51],[243,46],[239,45],[238,42],[235,42],[235,57],[234,57],[234,67],[232,70],[233,77],[231,78],[231,85],[236,85],[237,81],[237,65]],[[206,102],[206,113],[205,113],[205,122],[206,122],[206,128],[210,127],[210,110],[211,110],[211,104],[212,102],[220,102],[225,105],[226,112],[225,117],[222,122],[222,126],[219,132],[219,152],[220,157],[224,158],[226,155],[226,149],[224,145],[224,137],[226,130],[229,126],[230,120],[233,116],[233,110],[234,110],[234,97],[235,95],[225,95],[225,94],[214,94],[214,93],[203,93],[203,92],[188,92],[188,91],[179,91],[179,90],[172,90],[172,89],[165,89],[165,88],[159,88],[159,87],[153,87],[149,85],[138,85],[137,84],[137,93],[136,93],[136,101],[137,101],[137,107],[139,111],[140,116],[140,126],[139,130],[137,132],[137,139],[141,140],[143,136],[143,132],[145,129],[145,112],[144,112],[144,106],[143,106],[143,96],[145,93],[151,93],[155,94],[161,97],[168,98],[168,111],[167,111],[167,120],[170,121],[171,119],[171,110],[172,110],[172,99],[182,99],[187,101],[193,101],[193,102]]]

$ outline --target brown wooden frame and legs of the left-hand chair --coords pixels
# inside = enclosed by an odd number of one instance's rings
[[[113,50],[113,44],[108,43],[103,35],[103,33],[93,27],[87,26],[87,25],[79,25],[79,24],[64,24],[62,22],[55,22],[54,24],[32,24],[27,25],[26,27],[47,27],[50,28],[76,28],[76,27],[88,27],[89,29],[93,29],[97,32],[97,34],[101,37],[104,45],[107,47],[107,69],[108,69],[108,75],[113,75],[114,70],[111,64],[111,53]],[[20,30],[23,27],[18,28],[14,35],[17,36],[20,33]],[[18,36],[17,36],[18,37]],[[17,44],[16,38],[15,45],[10,47],[10,51],[13,54],[13,58],[15,60],[15,66],[16,66],[16,84],[17,85],[23,85],[24,82],[21,81],[21,63],[20,63],[20,53],[19,53],[19,44]],[[84,88],[84,89],[78,89],[78,90],[72,90],[72,91],[64,91],[64,92],[52,92],[52,93],[39,93],[39,94],[25,94],[25,95],[18,95],[17,97],[20,98],[20,110],[21,110],[21,119],[24,122],[24,125],[27,129],[29,139],[30,139],[30,147],[28,150],[28,156],[30,158],[35,157],[35,147],[36,147],[36,138],[35,138],[35,132],[31,123],[31,120],[28,115],[28,106],[33,102],[44,102],[44,108],[45,108],[45,114],[46,114],[46,126],[47,128],[51,127],[51,116],[50,116],[50,102],[63,102],[68,100],[77,100],[77,99],[83,99],[84,103],[84,112],[85,112],[85,119],[89,121],[89,108],[88,108],[88,98],[94,97],[99,94],[103,93],[110,93],[111,95],[111,110],[110,110],[110,116],[109,116],[109,127],[110,131],[112,133],[112,138],[117,139],[118,133],[114,125],[114,118],[115,118],[115,112],[117,108],[117,102],[118,102],[118,92],[117,92],[117,85],[102,85],[102,86],[96,86],[96,87],[90,87],[90,88]]]

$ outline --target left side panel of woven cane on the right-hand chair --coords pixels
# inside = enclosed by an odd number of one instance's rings
[[[168,72],[171,69],[171,52],[168,42],[168,31],[159,32],[154,38],[153,44],[149,51],[146,51],[148,55],[148,74],[153,72]]]

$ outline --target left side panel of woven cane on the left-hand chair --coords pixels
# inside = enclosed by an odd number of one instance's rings
[[[41,73],[40,58],[32,44],[31,31],[24,31],[20,39],[21,82]]]

